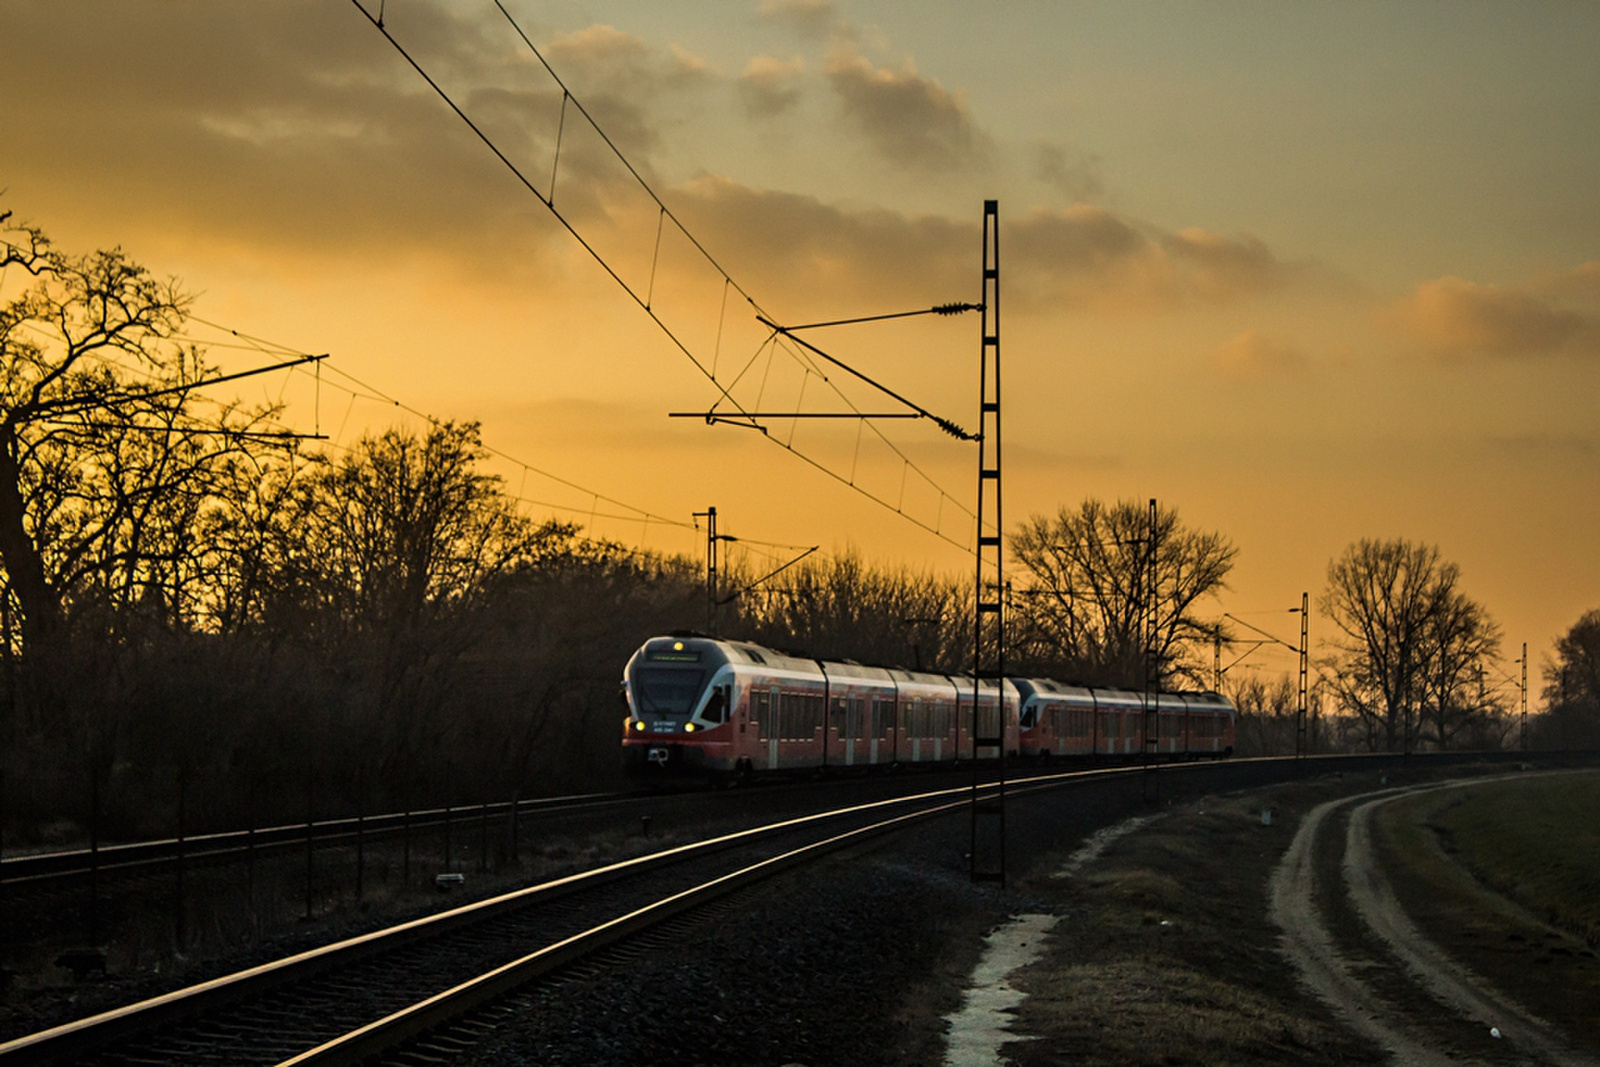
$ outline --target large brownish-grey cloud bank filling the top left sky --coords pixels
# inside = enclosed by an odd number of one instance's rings
[[[493,11],[493,10],[491,10]],[[387,29],[546,192],[560,88],[502,21],[389,5]],[[253,256],[464,266],[525,277],[568,242],[360,11],[106,3],[93,19],[8,5],[0,109],[8,206],[96,243],[205,243]],[[550,43],[562,77],[651,174],[672,94],[710,77],[694,56],[613,27]],[[552,59],[552,62],[555,62]],[[53,86],[40,93],[38,86]],[[600,218],[626,174],[565,117],[563,210]]]

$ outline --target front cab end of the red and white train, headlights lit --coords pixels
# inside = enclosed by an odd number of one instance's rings
[[[638,777],[731,774],[734,673],[720,641],[702,637],[645,641],[622,672],[624,769]]]

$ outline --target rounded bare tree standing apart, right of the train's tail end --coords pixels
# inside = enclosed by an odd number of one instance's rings
[[[1435,545],[1358,541],[1328,565],[1320,606],[1342,635],[1326,680],[1370,750],[1446,747],[1485,713],[1480,677],[1499,627]]]

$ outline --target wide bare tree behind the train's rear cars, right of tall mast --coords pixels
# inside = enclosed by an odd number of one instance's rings
[[[1133,688],[1147,673],[1158,685],[1203,675],[1197,649],[1218,625],[1198,606],[1227,587],[1227,537],[1184,526],[1176,509],[1152,522],[1134,501],[1086,499],[1034,515],[1010,544],[1026,571],[1011,614],[1018,669]]]

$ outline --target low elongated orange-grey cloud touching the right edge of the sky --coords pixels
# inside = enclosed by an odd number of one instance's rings
[[[1571,280],[1582,282],[1581,267]],[[1526,288],[1480,285],[1445,277],[1424,282],[1395,304],[1387,322],[1443,357],[1536,357],[1600,354],[1600,318]]]

